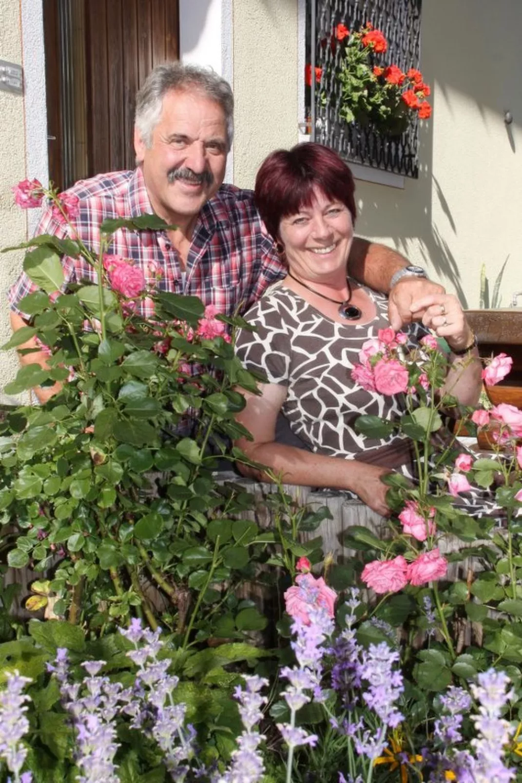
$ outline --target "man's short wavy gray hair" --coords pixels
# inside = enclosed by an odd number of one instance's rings
[[[229,82],[210,68],[183,63],[157,65],[146,78],[136,96],[135,127],[147,147],[153,143],[153,131],[161,117],[163,99],[171,90],[202,92],[221,106],[225,114],[227,144],[230,150],[234,135],[234,98]]]

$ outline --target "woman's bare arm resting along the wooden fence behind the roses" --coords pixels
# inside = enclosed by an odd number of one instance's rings
[[[288,484],[347,489],[358,495],[377,514],[390,513],[386,504],[387,486],[380,481],[387,468],[368,465],[357,460],[315,454],[293,446],[275,442],[275,422],[286,398],[286,387],[279,384],[260,384],[261,395],[242,391],[247,405],[238,413],[237,420],[253,435],[254,440],[240,438],[236,446],[243,449],[250,460],[271,468]],[[270,481],[265,473],[239,464],[239,470],[257,481]]]

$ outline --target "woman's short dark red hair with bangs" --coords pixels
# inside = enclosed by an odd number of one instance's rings
[[[291,150],[270,153],[257,171],[254,197],[261,219],[274,239],[281,218],[311,207],[314,189],[340,201],[355,222],[355,184],[347,164],[322,144],[297,144]]]

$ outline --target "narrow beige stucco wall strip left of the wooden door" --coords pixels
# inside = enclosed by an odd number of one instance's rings
[[[0,2],[0,59],[22,62],[18,0]],[[27,214],[13,204],[11,193],[11,186],[26,176],[23,96],[0,91],[0,117],[0,247],[9,247],[27,237]],[[10,334],[7,289],[16,279],[22,260],[20,251],[0,256],[0,345]],[[0,352],[0,387],[16,374],[17,366],[13,352]]]

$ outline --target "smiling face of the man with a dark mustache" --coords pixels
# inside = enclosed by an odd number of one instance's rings
[[[195,90],[171,90],[147,147],[135,130],[150,203],[160,217],[189,226],[225,177],[228,139],[219,103]]]

